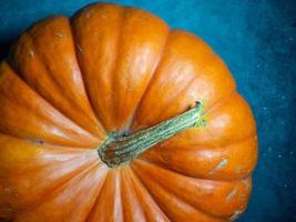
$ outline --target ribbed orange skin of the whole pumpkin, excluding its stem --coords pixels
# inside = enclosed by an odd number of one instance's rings
[[[129,164],[96,149],[204,101],[191,128]],[[38,22],[0,64],[0,220],[229,221],[257,160],[252,111],[200,38],[109,3]]]

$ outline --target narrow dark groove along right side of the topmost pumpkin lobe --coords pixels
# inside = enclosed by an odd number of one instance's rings
[[[157,62],[155,63],[155,65],[154,65],[154,68],[153,68],[153,71],[152,71],[151,78],[150,78],[150,80],[149,80],[149,83],[147,83],[147,85],[146,85],[146,89],[143,91],[143,94],[141,95],[141,98],[140,98],[140,100],[139,100],[139,102],[137,102],[137,104],[136,104],[136,107],[135,107],[135,109],[134,109],[134,112],[133,112],[132,115],[131,115],[132,118],[131,118],[131,121],[130,121],[130,123],[129,123],[129,125],[127,125],[127,129],[129,129],[129,130],[132,128],[132,125],[133,125],[133,123],[134,123],[134,121],[135,121],[135,117],[136,117],[136,113],[137,113],[137,111],[139,111],[139,108],[140,108],[141,104],[142,104],[143,98],[145,97],[146,92],[150,90],[150,88],[151,88],[151,85],[152,85],[152,82],[153,82],[153,79],[154,79],[154,77],[155,77],[155,73],[156,73],[156,71],[157,71],[157,69],[159,69],[159,67],[160,67],[160,64],[161,64],[163,54],[164,54],[164,52],[165,52],[165,50],[166,50],[166,48],[167,48],[167,42],[169,42],[169,39],[170,39],[171,33],[172,33],[172,32],[171,32],[171,30],[170,30],[170,28],[169,28],[167,36],[166,36],[166,38],[165,38],[165,41],[164,41],[164,43],[163,43],[162,51],[161,51],[161,53],[160,53],[160,58],[159,58]]]

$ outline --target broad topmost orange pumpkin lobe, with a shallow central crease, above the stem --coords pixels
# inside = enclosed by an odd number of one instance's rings
[[[134,111],[146,88],[151,70],[159,59],[167,34],[167,26],[159,18],[142,10],[131,8],[124,10],[127,13],[126,18],[123,18],[123,12],[119,12],[119,8],[114,6],[95,4],[94,8],[86,7],[72,20],[76,42],[82,49],[79,61],[85,73],[86,88],[96,115],[101,117],[108,131],[123,131],[130,121],[131,112]],[[100,27],[95,27],[95,21]],[[145,29],[145,24],[150,32]],[[159,34],[153,34],[153,29]],[[95,47],[92,49],[88,41]],[[143,57],[140,54],[142,52]],[[96,69],[98,64],[92,59],[96,59],[102,68]],[[92,81],[94,78],[96,80]],[[101,94],[100,88],[102,88]],[[98,95],[104,98],[98,100]],[[115,108],[120,109],[114,110]]]

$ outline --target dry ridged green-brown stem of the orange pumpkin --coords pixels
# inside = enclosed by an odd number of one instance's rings
[[[195,107],[188,111],[135,134],[118,137],[116,133],[110,133],[106,141],[98,149],[99,155],[110,168],[125,164],[177,132],[191,127],[205,125],[206,121],[202,114],[203,105],[196,102]]]

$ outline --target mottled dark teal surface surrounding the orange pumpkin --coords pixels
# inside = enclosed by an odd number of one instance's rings
[[[0,59],[32,22],[86,0],[1,0]],[[296,221],[296,1],[122,0],[202,37],[227,63],[257,121],[259,161],[241,222]],[[176,3],[177,2],[177,3]],[[1,105],[1,104],[0,104]]]

